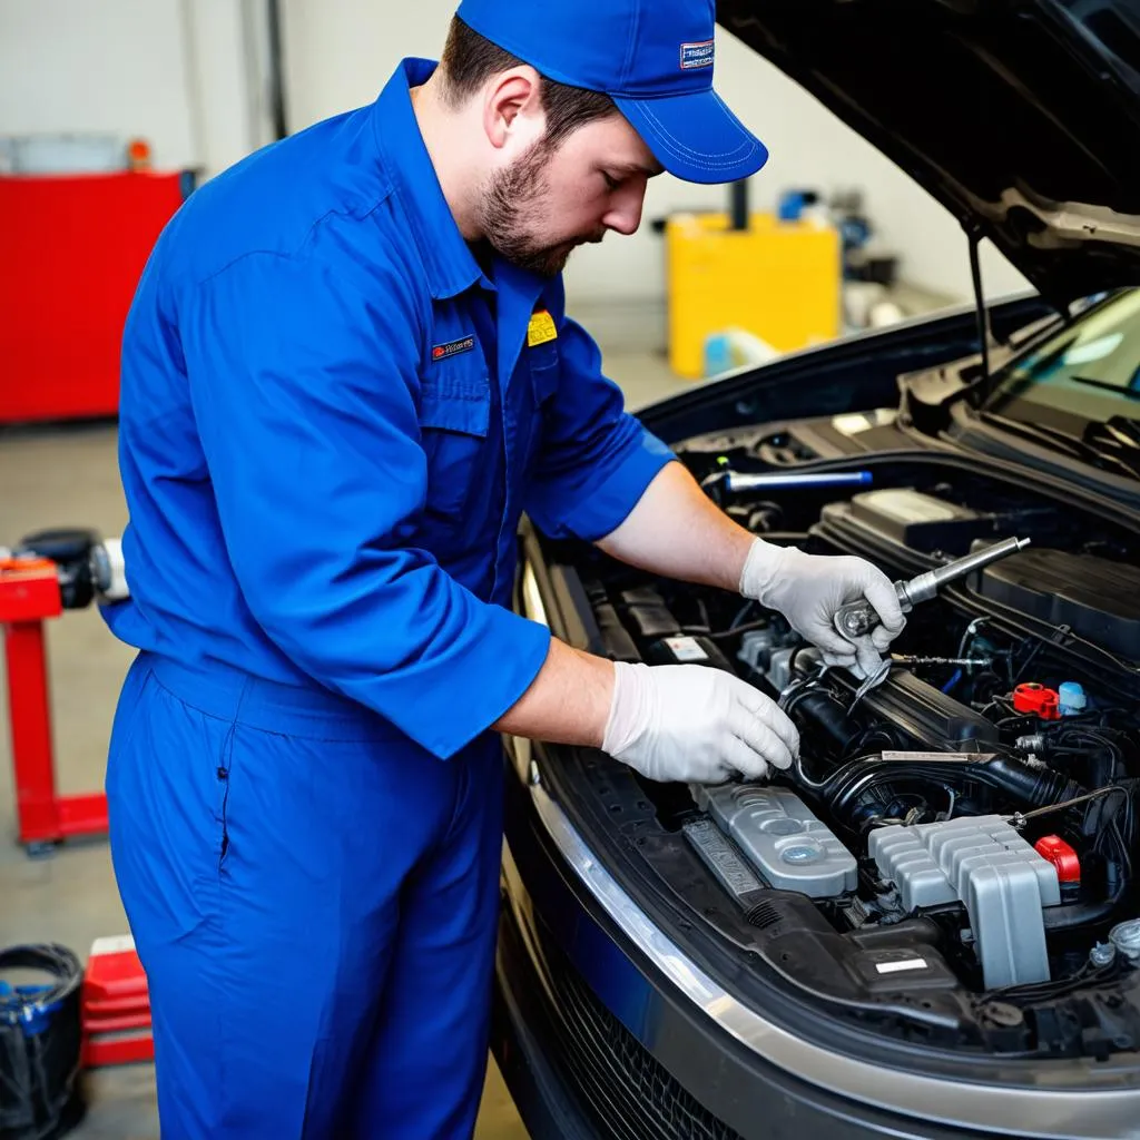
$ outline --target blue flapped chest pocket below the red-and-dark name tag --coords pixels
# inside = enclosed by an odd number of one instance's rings
[[[490,377],[477,357],[429,366],[420,388],[429,514],[456,518],[478,479],[491,417]]]

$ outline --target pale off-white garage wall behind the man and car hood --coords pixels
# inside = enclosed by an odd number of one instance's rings
[[[141,135],[163,168],[209,176],[268,141],[266,0],[0,0],[0,133],[115,131]],[[291,129],[368,103],[405,55],[437,56],[455,0],[283,0]],[[757,207],[789,186],[857,184],[887,245],[920,287],[970,293],[956,222],[854,132],[771,65],[718,32],[717,85],[768,144],[752,180]],[[646,219],[716,209],[723,188],[665,176],[650,186]],[[1024,282],[994,251],[987,293]],[[576,253],[567,274],[577,306],[661,309],[661,243],[645,226]]]

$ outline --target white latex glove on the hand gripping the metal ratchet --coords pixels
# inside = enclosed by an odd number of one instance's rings
[[[906,619],[891,580],[865,559],[805,554],[757,538],[744,560],[740,593],[779,610],[791,627],[823,651],[828,665],[870,677],[882,665],[880,653],[903,630]],[[848,641],[832,620],[839,606],[865,597],[882,619],[870,633]]]

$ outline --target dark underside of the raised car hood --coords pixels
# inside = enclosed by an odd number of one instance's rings
[[[1140,283],[1134,0],[718,0],[1050,301]]]

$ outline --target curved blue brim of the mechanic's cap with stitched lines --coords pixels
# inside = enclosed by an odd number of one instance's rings
[[[716,91],[613,101],[657,161],[686,182],[734,182],[768,161],[767,147]]]

